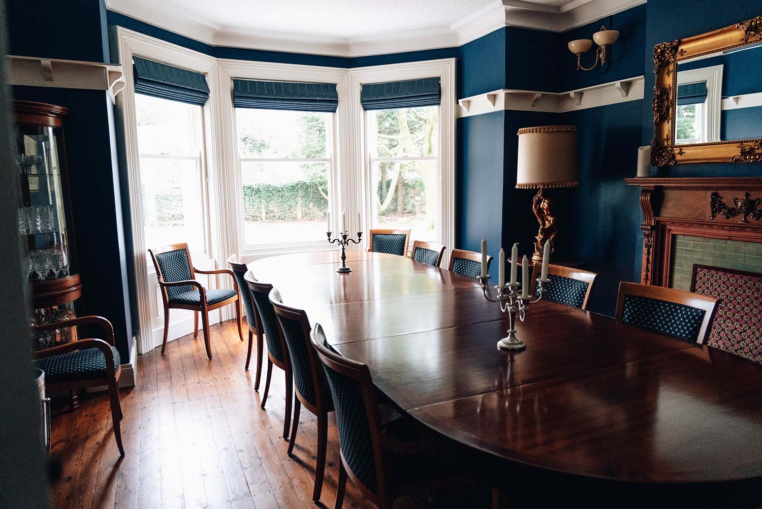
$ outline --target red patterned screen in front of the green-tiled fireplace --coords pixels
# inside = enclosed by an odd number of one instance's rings
[[[720,299],[706,344],[762,363],[762,274],[693,264],[690,291]]]

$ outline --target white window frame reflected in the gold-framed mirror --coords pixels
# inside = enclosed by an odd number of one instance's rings
[[[720,109],[722,107],[722,64],[719,66],[702,67],[701,69],[677,70],[677,86],[690,85],[691,83],[706,82],[706,101],[701,107],[701,139],[684,140],[680,145],[690,143],[719,142],[720,133]],[[677,91],[675,91],[677,94]],[[677,101],[675,101],[677,107]],[[696,114],[699,114],[696,108]],[[672,136],[677,143],[677,123],[674,126]]]

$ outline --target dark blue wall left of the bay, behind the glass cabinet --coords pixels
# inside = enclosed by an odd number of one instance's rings
[[[108,60],[102,0],[9,2],[8,25],[11,54]],[[133,325],[127,293],[128,250],[120,203],[114,108],[105,91],[16,86],[12,92],[16,99],[69,108],[64,136],[82,277],[79,304],[82,312],[110,320],[123,362],[127,362]]]

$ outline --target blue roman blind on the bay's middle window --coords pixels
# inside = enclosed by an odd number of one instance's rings
[[[233,80],[233,106],[261,110],[336,112],[334,83],[255,82]]]

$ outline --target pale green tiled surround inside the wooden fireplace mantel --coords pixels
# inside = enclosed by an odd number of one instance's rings
[[[693,264],[738,271],[762,272],[762,243],[724,238],[675,235],[672,242],[670,287],[690,290]]]

